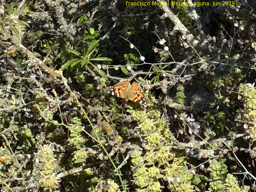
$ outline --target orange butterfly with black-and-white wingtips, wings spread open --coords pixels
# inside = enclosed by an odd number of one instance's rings
[[[145,96],[141,93],[141,87],[136,83],[131,85],[128,81],[119,82],[114,87],[109,88],[107,92],[123,98],[125,102],[131,100],[140,104],[147,104]]]

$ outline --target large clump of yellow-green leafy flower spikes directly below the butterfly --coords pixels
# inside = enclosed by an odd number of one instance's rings
[[[131,155],[136,192],[162,191],[164,186],[159,183],[160,178],[172,180],[172,184],[168,185],[171,191],[194,191],[195,186],[191,184],[193,175],[188,173],[185,159],[175,157],[173,136],[160,112],[154,108],[148,113],[138,110],[129,112],[138,121],[140,135],[146,141],[142,145],[145,153],[134,151]]]

